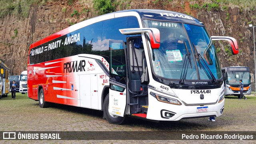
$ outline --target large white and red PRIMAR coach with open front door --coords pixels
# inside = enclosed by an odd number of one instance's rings
[[[125,10],[74,24],[31,44],[28,97],[126,116],[180,120],[220,116],[224,82],[212,40],[194,17]]]

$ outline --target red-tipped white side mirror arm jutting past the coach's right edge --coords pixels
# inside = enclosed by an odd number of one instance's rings
[[[231,45],[232,54],[238,54],[238,44],[235,38],[229,36],[211,36],[212,40],[227,40]]]

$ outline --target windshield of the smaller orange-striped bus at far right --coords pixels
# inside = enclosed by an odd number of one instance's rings
[[[250,72],[227,72],[227,84],[239,84],[239,80],[243,80],[244,84],[250,84]]]

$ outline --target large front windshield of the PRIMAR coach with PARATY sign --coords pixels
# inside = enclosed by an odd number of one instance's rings
[[[150,49],[152,67],[157,76],[182,79],[186,69],[186,80],[212,80],[222,77],[215,48],[203,26],[154,20],[144,20],[144,25],[146,28],[158,28],[160,31],[160,48]],[[188,53],[191,54],[190,60],[186,60]],[[190,61],[188,65],[187,61]]]

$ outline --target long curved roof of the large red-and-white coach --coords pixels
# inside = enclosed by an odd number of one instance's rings
[[[139,14],[140,19],[154,19],[154,20],[160,20],[160,21],[183,22],[186,24],[204,26],[203,23],[200,22],[198,19],[186,14],[178,13],[178,12],[172,12],[167,10],[154,10],[154,9],[122,10],[122,11],[112,12],[109,14],[104,14],[94,18],[90,18],[88,20],[84,20],[82,22],[74,24],[68,28],[65,28],[59,32],[56,32],[55,34],[52,34],[50,36],[47,36],[46,38],[43,38],[37,42],[34,42],[33,44],[30,45],[30,49],[36,46],[40,46],[41,44],[44,44],[46,42],[49,42],[50,40],[54,40],[60,36],[64,36],[65,34],[73,32],[74,30],[78,30],[86,25],[115,18],[115,14],[120,14],[122,12],[123,13],[136,12],[137,14]],[[124,16],[126,15],[124,14]],[[131,15],[127,15],[127,16],[131,16]]]

